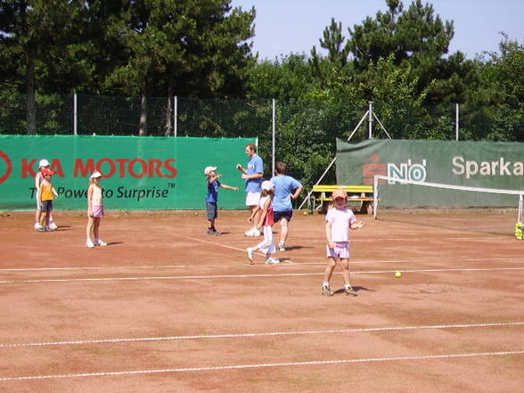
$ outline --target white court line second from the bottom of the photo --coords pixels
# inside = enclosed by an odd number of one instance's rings
[[[134,339],[100,339],[100,340],[70,340],[70,341],[51,341],[51,342],[28,342],[14,344],[0,344],[0,348],[20,348],[20,347],[49,347],[61,345],[85,345],[85,344],[108,344],[119,342],[140,342],[140,341],[172,341],[172,340],[209,340],[209,339],[244,339],[270,336],[291,336],[306,334],[332,334],[332,333],[360,333],[360,332],[399,332],[429,329],[471,329],[484,327],[508,327],[523,326],[524,322],[507,323],[468,323],[468,324],[437,324],[421,326],[397,326],[381,328],[360,328],[360,329],[337,329],[326,331],[301,331],[301,332],[265,332],[265,333],[236,333],[236,334],[208,334],[193,336],[168,336],[168,337],[142,337]]]

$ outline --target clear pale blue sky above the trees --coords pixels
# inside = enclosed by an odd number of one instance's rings
[[[407,9],[411,0],[403,0]],[[454,38],[450,53],[462,51],[468,58],[484,51],[498,51],[504,31],[512,40],[524,44],[524,0],[433,0],[442,20],[454,21]],[[233,0],[233,6],[250,10],[255,6],[253,53],[259,59],[274,60],[290,53],[309,55],[313,45],[319,50],[319,38],[332,18],[348,28],[361,24],[367,16],[374,19],[377,11],[387,10],[385,0]],[[323,53],[323,52],[321,52]]]

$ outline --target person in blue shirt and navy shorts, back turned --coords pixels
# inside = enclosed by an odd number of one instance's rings
[[[302,184],[291,176],[287,176],[288,166],[285,162],[277,162],[274,165],[274,176],[271,183],[274,184],[273,214],[274,222],[280,223],[280,241],[278,250],[285,251],[285,243],[288,239],[289,223],[293,216],[291,200],[299,198],[302,192]]]

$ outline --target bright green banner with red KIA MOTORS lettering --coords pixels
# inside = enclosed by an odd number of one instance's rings
[[[38,161],[51,163],[54,209],[86,209],[88,179],[102,173],[107,209],[206,209],[204,168],[218,167],[218,206],[244,208],[245,145],[254,138],[0,135],[0,209],[35,209]]]

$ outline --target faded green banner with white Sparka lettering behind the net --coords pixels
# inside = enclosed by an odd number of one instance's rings
[[[373,184],[375,175],[468,187],[524,190],[524,143],[337,140],[337,183]],[[518,195],[454,191],[381,181],[381,206],[517,207]]]

